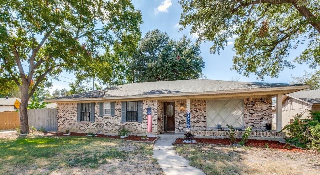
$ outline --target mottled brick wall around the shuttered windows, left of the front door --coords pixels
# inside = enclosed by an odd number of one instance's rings
[[[77,103],[58,103],[58,131],[81,133],[118,133],[125,127],[132,134],[147,133],[147,107],[152,107],[152,132],[157,134],[157,100],[142,102],[142,123],[125,122],[121,123],[121,102],[115,103],[115,116],[104,115],[99,117],[99,103],[95,103],[95,121],[77,122]]]

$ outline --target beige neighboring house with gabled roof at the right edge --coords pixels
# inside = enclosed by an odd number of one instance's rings
[[[304,112],[301,118],[308,118],[306,110],[320,111],[320,90],[304,90],[283,95],[282,128],[293,122],[296,114]],[[273,109],[275,115],[276,107]],[[276,123],[275,121],[273,123]]]

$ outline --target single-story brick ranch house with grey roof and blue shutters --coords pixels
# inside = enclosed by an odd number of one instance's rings
[[[225,136],[228,124],[238,130],[252,126],[252,137],[283,137],[267,132],[266,124],[272,123],[272,97],[281,102],[282,95],[306,88],[196,79],[124,84],[46,101],[58,104],[59,132],[116,134],[125,127],[131,134],[146,134],[149,108],[152,131],[148,134],[191,131],[197,136]],[[276,130],[280,131],[281,110],[277,114]]]

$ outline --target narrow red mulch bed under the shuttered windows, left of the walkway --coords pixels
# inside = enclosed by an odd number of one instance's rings
[[[65,133],[49,133],[45,135],[50,135],[50,136],[86,136],[87,133],[72,133],[70,132],[71,135],[63,135]],[[120,138],[120,135],[110,135],[109,137],[105,134],[96,134],[96,137],[105,137],[105,138],[111,138],[111,139],[122,139]],[[90,137],[90,136],[86,136]],[[123,138],[123,140],[129,140],[129,141],[151,141],[153,142],[156,140],[156,137],[148,137],[149,139],[141,139],[141,136],[136,136],[136,135],[129,135],[129,137]]]

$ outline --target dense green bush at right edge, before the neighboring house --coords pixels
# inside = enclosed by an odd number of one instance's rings
[[[288,135],[291,136],[287,142],[301,148],[320,151],[320,112],[310,111],[309,118],[302,120],[303,114],[304,112],[295,115],[293,123],[282,129],[282,131],[288,130]]]

